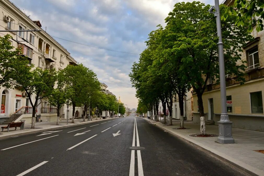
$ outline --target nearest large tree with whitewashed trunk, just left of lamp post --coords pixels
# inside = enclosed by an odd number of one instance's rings
[[[206,90],[208,79],[219,83],[218,42],[216,22],[209,14],[210,5],[200,2],[176,3],[175,8],[165,19],[170,31],[175,35],[173,54],[181,55],[179,70],[183,79],[196,92],[200,110],[201,134],[206,134],[202,95]],[[225,6],[220,6],[224,11]],[[226,74],[234,76],[243,83],[245,65],[238,65],[241,60],[239,52],[246,41],[252,40],[247,29],[233,24],[236,16],[230,15],[222,22],[224,57]],[[174,32],[173,32],[174,31]]]

